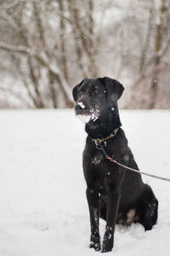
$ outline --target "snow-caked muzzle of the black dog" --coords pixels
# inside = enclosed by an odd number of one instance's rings
[[[87,109],[82,102],[77,103],[75,112],[77,117],[84,123],[88,123],[89,121],[95,122],[97,119],[99,119],[99,110],[94,108]]]

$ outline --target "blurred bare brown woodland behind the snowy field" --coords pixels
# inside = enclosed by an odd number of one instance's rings
[[[71,108],[84,77],[170,109],[169,0],[0,0],[0,108]]]

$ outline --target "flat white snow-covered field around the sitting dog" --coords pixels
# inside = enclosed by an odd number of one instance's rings
[[[170,177],[170,111],[120,114],[140,170]],[[73,110],[0,111],[0,256],[99,255],[88,249],[85,137]],[[148,232],[117,225],[109,254],[169,255],[170,183],[144,182],[159,201],[157,225]]]

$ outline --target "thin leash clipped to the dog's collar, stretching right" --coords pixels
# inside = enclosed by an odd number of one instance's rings
[[[122,165],[121,163],[117,162],[115,159],[112,159],[111,156],[109,156],[109,154],[106,153],[105,148],[104,148],[103,145],[101,145],[100,143],[95,143],[95,144],[96,144],[96,148],[97,149],[103,151],[103,153],[105,154],[105,158],[107,160],[110,160],[112,163],[115,163],[117,166],[122,166],[123,168],[125,168],[127,170],[130,170],[132,172],[138,172],[138,173],[144,174],[144,175],[149,176],[149,177],[155,177],[155,178],[158,178],[158,179],[170,182],[170,178],[156,176],[156,175],[153,175],[153,174],[150,174],[150,173],[147,173],[147,172],[139,172],[139,170],[135,170],[135,169],[133,169],[131,167]]]

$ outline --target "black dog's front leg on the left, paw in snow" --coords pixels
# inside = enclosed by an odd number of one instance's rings
[[[99,192],[94,189],[88,188],[86,190],[86,195],[88,199],[88,207],[90,214],[90,224],[91,224],[91,236],[90,236],[90,248],[94,248],[99,251],[100,237],[99,237]]]

